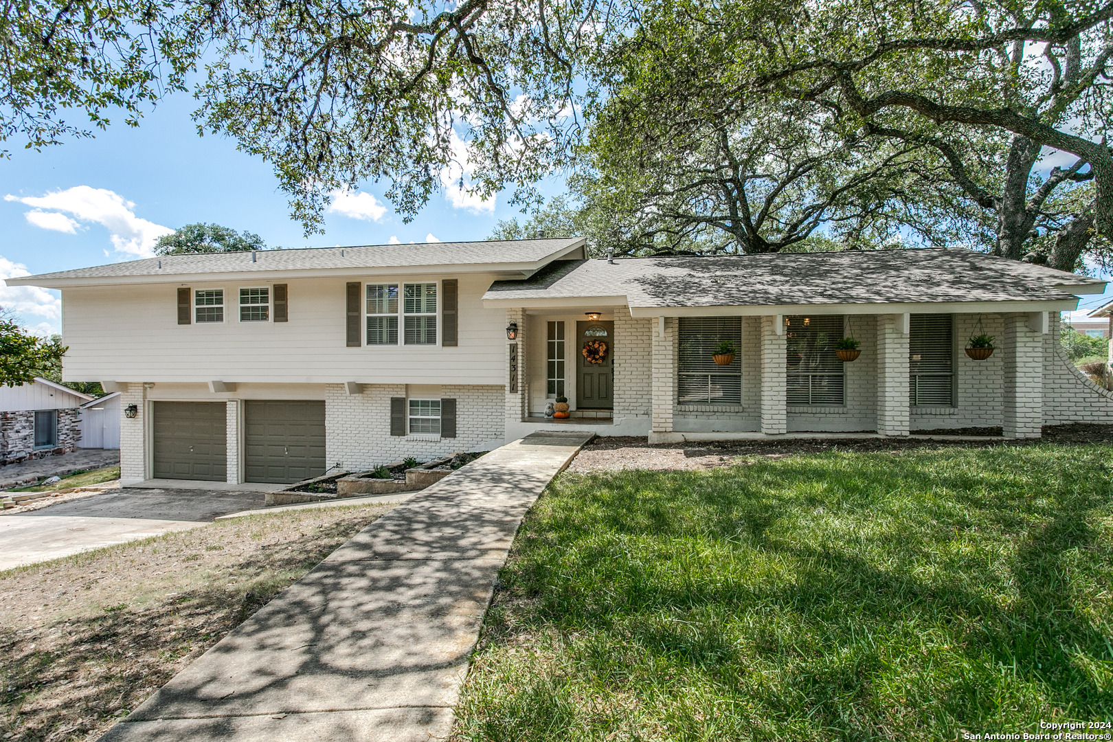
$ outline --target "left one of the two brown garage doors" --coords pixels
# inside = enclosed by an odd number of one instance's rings
[[[224,482],[225,403],[155,403],[155,477]]]

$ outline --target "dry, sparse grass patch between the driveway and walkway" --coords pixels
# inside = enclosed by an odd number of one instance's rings
[[[220,521],[0,573],[0,739],[96,739],[391,507]]]

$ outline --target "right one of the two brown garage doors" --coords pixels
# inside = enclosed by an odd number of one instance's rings
[[[244,403],[248,482],[289,484],[325,473],[325,403]]]

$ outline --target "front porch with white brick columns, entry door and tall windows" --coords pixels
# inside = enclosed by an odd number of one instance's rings
[[[508,310],[518,330],[506,356],[508,435],[578,429],[671,443],[1001,427],[1008,438],[1040,436],[1054,316],[875,308],[883,307],[710,317],[631,317],[626,307]],[[605,332],[605,363],[588,369],[594,396],[584,388],[584,325]],[[965,354],[975,334],[996,338],[988,359]],[[834,340],[844,336],[860,343],[854,362],[835,358]],[[726,366],[710,363],[708,348],[720,342],[738,349]],[[559,396],[568,397],[567,419],[545,416]]]

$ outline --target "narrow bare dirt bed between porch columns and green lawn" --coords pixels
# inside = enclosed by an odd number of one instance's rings
[[[996,429],[999,434],[999,429]],[[933,432],[942,435],[940,432]],[[947,435],[986,436],[988,428],[947,431]],[[1113,443],[1113,425],[1055,425],[1043,429],[1044,442]],[[740,463],[745,457],[779,458],[791,454],[825,451],[890,452],[953,446],[984,447],[1030,445],[1035,441],[933,441],[918,436],[906,438],[794,438],[785,441],[712,441],[707,443],[666,443],[650,445],[642,437],[598,437],[584,446],[569,472],[599,472],[624,468],[707,469]]]

